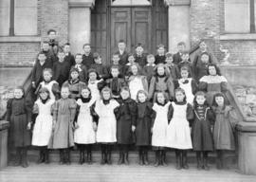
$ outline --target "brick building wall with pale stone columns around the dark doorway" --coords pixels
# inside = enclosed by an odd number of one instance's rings
[[[3,0],[0,3],[0,12],[2,12],[0,13],[1,28],[9,27],[6,31],[0,30],[0,63],[2,65],[32,63],[36,53],[40,50],[41,43],[47,39],[46,32],[50,28],[57,30],[58,40],[61,45],[71,42],[73,53],[81,52],[82,44],[92,41],[94,33],[92,33],[93,30],[91,29],[94,24],[92,13],[97,12],[98,4],[103,0],[25,0],[22,3],[19,1],[21,0]],[[227,56],[223,50],[226,49],[228,50],[229,62],[231,64],[256,64],[255,18],[252,17],[255,14],[252,12],[252,10],[254,11],[254,0],[160,1],[165,6],[165,9],[167,9],[165,11],[167,17],[166,45],[171,52],[175,51],[175,45],[179,41],[186,42],[189,48],[192,48],[201,39],[205,39],[210,49],[220,61]],[[108,7],[111,7],[112,4],[114,7],[114,2],[109,0],[107,3]],[[116,2],[118,3],[119,1],[116,0]],[[135,0],[127,2],[130,2],[131,6],[141,7],[141,5],[137,5]],[[133,5],[133,2],[135,5]],[[151,0],[148,2],[150,7],[159,1]],[[30,6],[31,4],[34,4],[36,7]],[[237,7],[241,9],[241,14],[238,14],[237,21],[234,21],[236,17],[232,11],[235,12]],[[115,8],[121,9],[122,6],[116,6]],[[22,9],[24,14],[27,13],[27,16],[16,17],[15,13],[20,13],[19,10]],[[25,20],[21,19],[26,19],[28,16],[34,17],[31,23],[33,27],[37,28],[37,31],[31,33],[31,35],[26,33],[26,30],[30,31],[26,22],[24,25],[16,23],[19,21],[23,23]],[[102,17],[104,16],[110,16],[106,23],[111,23],[111,12],[108,15],[108,10],[106,9],[106,13],[103,13]],[[157,22],[157,16],[155,17]],[[9,21],[6,19],[9,19]],[[248,28],[238,28],[236,30],[237,25],[239,27],[248,26]],[[14,33],[11,30],[13,27]],[[15,30],[15,27],[24,29],[24,31],[16,35],[15,31],[18,32],[19,29]],[[107,24],[106,27],[110,26]],[[110,31],[111,29],[105,32],[102,31],[106,39],[108,39],[107,35]],[[103,38],[101,37],[101,39]],[[220,46],[222,46],[223,52],[220,50]],[[101,52],[101,49],[95,46],[96,51]],[[152,44],[151,50],[155,53],[155,44]],[[111,51],[113,50],[108,52]],[[101,54],[106,56],[106,52],[101,52]]]

